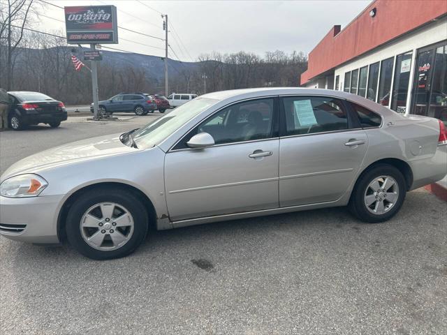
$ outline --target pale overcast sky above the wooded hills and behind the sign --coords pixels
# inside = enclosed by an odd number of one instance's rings
[[[38,0],[37,0],[38,1]],[[199,54],[218,51],[222,53],[255,52],[261,56],[266,51],[293,50],[309,53],[334,24],[349,24],[371,0],[351,1],[64,1],[47,0],[58,6],[112,4],[118,8],[118,24],[145,34],[164,37],[161,13],[177,32],[170,29],[169,44],[182,61],[196,59]],[[143,3],[154,8],[152,10]],[[41,6],[39,4],[39,6]],[[64,20],[64,10],[45,5],[41,11],[46,16]],[[35,27],[43,31],[65,34],[62,22],[47,17],[35,18]],[[131,52],[162,56],[164,42],[119,30],[119,38],[126,38],[145,45],[120,40],[110,45]],[[183,46],[179,46],[182,40]],[[172,52],[170,52],[172,53]],[[173,54],[171,58],[176,58]]]

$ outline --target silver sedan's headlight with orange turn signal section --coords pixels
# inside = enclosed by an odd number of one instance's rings
[[[0,195],[7,198],[37,197],[48,186],[37,174],[20,174],[0,184]]]

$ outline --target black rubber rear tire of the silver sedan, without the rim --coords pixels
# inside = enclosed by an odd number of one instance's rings
[[[372,192],[372,188],[369,188],[369,184],[374,181],[374,179],[381,176],[389,176],[396,181],[395,184],[397,184],[398,190],[397,200],[395,200],[392,206],[390,206],[390,208],[383,214],[374,214],[372,213],[372,207],[375,207],[376,202],[370,205],[369,208],[371,210],[369,210],[367,204],[365,203],[365,197],[367,195],[367,192]],[[390,218],[395,216],[395,214],[397,214],[397,212],[402,207],[406,195],[406,190],[407,187],[404,176],[399,170],[397,170],[397,168],[389,164],[373,165],[371,168],[363,172],[358,178],[356,186],[354,186],[353,193],[351,194],[349,209],[353,216],[356,216],[356,218],[366,223],[380,223],[388,221]],[[369,196],[375,196],[376,199],[377,197],[380,197],[379,199],[383,199],[383,203],[386,204],[386,206],[389,206],[391,202],[387,202],[386,196],[382,198],[383,194],[384,193],[378,193],[378,195],[376,195],[376,193],[370,193]]]

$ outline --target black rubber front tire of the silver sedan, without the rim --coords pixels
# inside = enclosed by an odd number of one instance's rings
[[[87,209],[101,202],[114,202],[126,208],[133,218],[133,234],[126,244],[115,250],[98,250],[87,244],[82,237],[80,228],[82,216],[84,216]],[[71,246],[82,255],[94,260],[109,260],[112,258],[122,258],[133,253],[142,241],[145,240],[148,226],[148,216],[145,206],[133,193],[122,189],[104,187],[85,193],[73,203],[66,218],[66,235]]]

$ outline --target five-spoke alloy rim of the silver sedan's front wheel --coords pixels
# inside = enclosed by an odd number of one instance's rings
[[[132,237],[133,217],[121,204],[101,202],[91,206],[80,221],[82,239],[97,250],[121,248]]]

